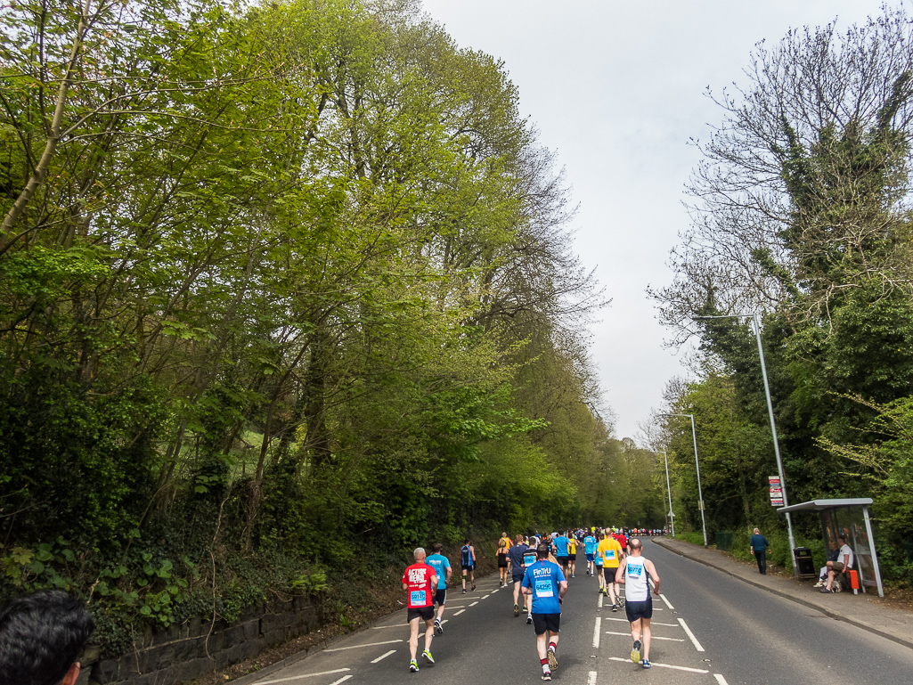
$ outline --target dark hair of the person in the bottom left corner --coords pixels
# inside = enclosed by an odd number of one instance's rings
[[[0,682],[57,685],[79,659],[95,624],[62,590],[39,590],[0,609]]]

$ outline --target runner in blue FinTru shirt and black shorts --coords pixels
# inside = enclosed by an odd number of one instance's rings
[[[536,548],[538,561],[523,575],[523,594],[532,597],[531,621],[536,632],[536,652],[542,667],[542,680],[551,680],[558,668],[558,633],[561,630],[561,602],[568,582],[561,567],[548,561],[549,547]],[[546,636],[546,633],[548,635]]]

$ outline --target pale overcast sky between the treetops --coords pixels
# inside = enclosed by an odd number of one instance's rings
[[[708,87],[746,84],[761,40],[863,24],[882,1],[424,0],[458,46],[504,61],[520,113],[564,169],[579,205],[574,250],[612,299],[590,353],[615,437],[637,437],[666,382],[687,377],[687,349],[666,346],[645,289],[673,278],[669,250],[688,227],[684,184],[700,159],[688,141],[722,120]]]

